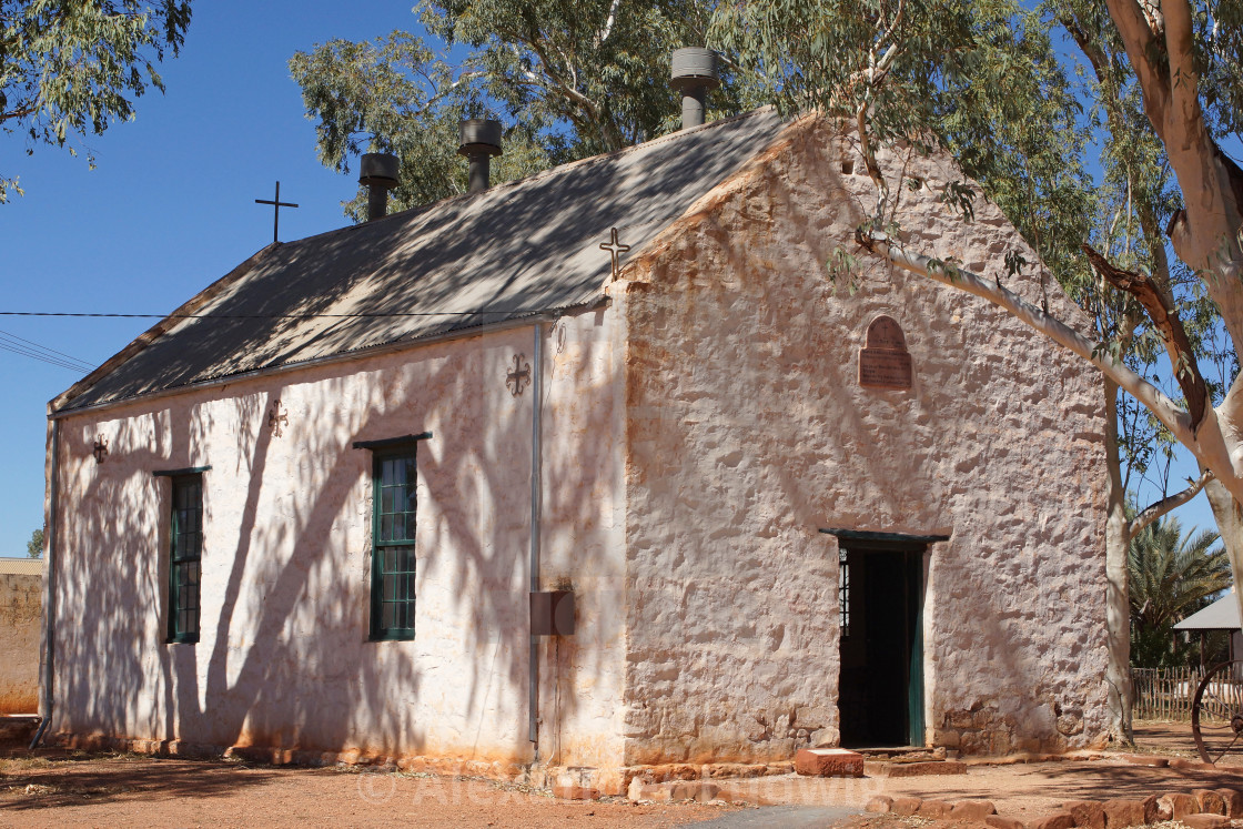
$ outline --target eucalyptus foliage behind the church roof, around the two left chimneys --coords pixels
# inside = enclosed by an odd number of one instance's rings
[[[394,31],[370,42],[333,40],[290,61],[321,160],[348,170],[352,155],[394,152],[398,208],[465,193],[455,153],[462,117],[507,124],[493,179],[613,152],[677,128],[669,56],[702,45],[710,4],[699,0],[425,1],[429,39]],[[758,103],[727,65],[715,114]],[[347,213],[362,218],[360,201]]]

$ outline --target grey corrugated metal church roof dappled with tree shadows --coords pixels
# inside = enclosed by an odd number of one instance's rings
[[[638,255],[782,126],[757,109],[273,246],[195,311],[264,318],[164,323],[60,410],[590,305],[610,273],[599,245],[612,227],[630,245],[625,256]],[[390,313],[433,316],[290,318]]]

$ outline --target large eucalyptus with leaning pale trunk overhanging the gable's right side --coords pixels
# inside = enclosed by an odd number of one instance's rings
[[[720,7],[712,35],[786,108],[819,109],[854,126],[876,193],[856,232],[861,249],[999,305],[1103,373],[1109,681],[1115,730],[1126,736],[1130,537],[1208,485],[1236,573],[1243,566],[1243,442],[1232,428],[1243,398],[1234,387],[1234,337],[1243,332],[1236,194],[1243,176],[1217,144],[1237,133],[1243,72],[1237,0],[1195,9],[1187,0],[1106,6],[743,0]],[[1058,34],[1081,56],[1083,81],[1066,71]],[[899,173],[881,169],[876,154],[897,142],[950,149],[1042,261],[1009,251],[992,273],[979,275],[902,245]],[[1089,174],[1095,157],[1100,180]],[[946,183],[942,198],[970,220],[968,185]],[[842,251],[830,273],[851,256]],[[1091,331],[1007,286],[1043,286],[1049,276],[1089,312]],[[1218,329],[1224,336],[1214,346]],[[1204,353],[1226,367],[1216,388],[1199,368]],[[1157,357],[1168,359],[1177,393],[1150,379]],[[1120,416],[1140,433],[1120,436]],[[1181,442],[1202,475],[1130,518],[1121,455],[1129,469],[1147,462],[1137,434]]]

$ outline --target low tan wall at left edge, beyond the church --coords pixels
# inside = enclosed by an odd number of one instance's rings
[[[39,710],[42,592],[42,577],[0,573],[0,713]]]

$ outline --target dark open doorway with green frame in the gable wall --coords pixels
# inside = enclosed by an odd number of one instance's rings
[[[834,534],[844,599],[838,684],[842,746],[922,746],[924,553],[929,541],[941,538]]]

